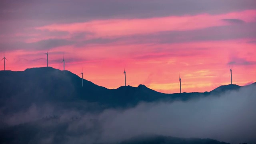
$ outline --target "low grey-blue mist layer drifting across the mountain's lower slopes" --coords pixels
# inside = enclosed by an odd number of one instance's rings
[[[39,115],[57,115],[36,123],[39,129],[50,130],[44,137],[36,138],[42,143],[56,143],[60,133],[65,144],[120,142],[146,134],[255,143],[255,93],[256,86],[251,85],[200,100],[141,103],[126,110],[100,113],[32,106],[22,114],[4,117],[4,121],[17,125],[35,121]]]

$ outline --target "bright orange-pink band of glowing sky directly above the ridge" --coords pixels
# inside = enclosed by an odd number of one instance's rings
[[[239,57],[243,57],[244,55],[239,51],[240,47],[246,46],[248,48],[247,52],[251,52],[250,54],[254,54],[253,52],[255,51],[255,45],[243,43],[237,44],[235,41],[173,44],[169,45],[169,47],[180,46],[182,48],[183,46],[186,47],[188,45],[203,46],[204,44],[216,46],[216,49],[207,51],[205,54],[199,53],[195,56],[192,55],[186,57],[161,57],[161,55],[159,55],[159,57],[148,57],[137,60],[136,58],[129,58],[129,55],[121,54],[121,56],[117,56],[117,58],[110,56],[109,58],[104,58],[102,60],[85,60],[80,62],[68,61],[68,59],[72,58],[72,55],[76,58],[79,58],[80,56],[82,58],[82,55],[84,55],[84,58],[90,57],[90,54],[81,49],[77,53],[65,54],[65,67],[66,70],[69,70],[78,76],[82,68],[84,68],[84,79],[112,89],[124,85],[123,70],[124,66],[126,66],[127,85],[138,86],[139,84],[144,84],[153,90],[164,93],[179,92],[178,75],[180,73],[182,78],[182,92],[204,92],[213,90],[220,85],[230,84],[229,67],[227,63],[230,57],[228,53],[231,49],[222,51],[224,47],[230,45],[230,47],[233,47],[232,50],[238,52]],[[168,45],[164,47],[168,47]],[[69,51],[71,48],[63,47],[62,49]],[[49,51],[49,66],[63,70],[61,62],[62,55],[54,55],[51,54],[51,52],[54,52],[54,50]],[[88,50],[88,52],[92,51]],[[46,56],[43,51],[39,53],[40,55],[38,56],[33,56],[33,52],[24,51],[7,53],[6,58],[8,61],[6,61],[6,69],[22,71],[26,68],[45,67]],[[182,53],[182,51],[179,53]],[[26,59],[26,54],[31,54],[29,60]],[[93,54],[97,54],[97,51],[92,53],[92,55]],[[53,57],[56,57],[56,59],[53,59]],[[124,59],[120,57],[123,57]],[[20,58],[19,61],[18,58]],[[253,55],[248,60],[256,61],[256,57]],[[255,82],[255,66],[235,65],[232,69],[233,84],[243,86],[249,82]]]

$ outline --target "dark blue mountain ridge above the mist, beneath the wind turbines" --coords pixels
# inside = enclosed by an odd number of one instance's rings
[[[140,102],[186,101],[240,88],[232,84],[220,86],[211,92],[164,94],[142,84],[138,87],[121,86],[117,89],[108,89],[88,80],[84,80],[82,87],[82,79],[79,76],[67,70],[64,74],[63,71],[52,67],[30,68],[22,72],[0,71],[0,79],[0,108],[4,108],[4,112],[17,111],[28,108],[31,104],[40,105],[46,102],[78,109],[84,106],[72,103],[94,103],[93,110],[127,108]]]

